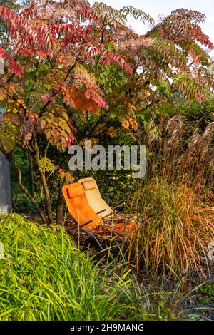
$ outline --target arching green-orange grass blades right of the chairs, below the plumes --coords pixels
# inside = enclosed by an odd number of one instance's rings
[[[133,196],[131,212],[141,225],[129,248],[129,260],[137,271],[204,274],[208,243],[214,241],[214,210],[193,189],[151,180]]]

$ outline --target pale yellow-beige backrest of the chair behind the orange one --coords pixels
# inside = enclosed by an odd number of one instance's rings
[[[81,185],[83,185],[88,204],[96,213],[100,212],[101,210],[105,210],[105,212],[99,214],[101,217],[105,217],[106,215],[113,212],[111,207],[109,207],[102,199],[96,180],[93,178],[85,178],[78,180],[78,182],[81,182]]]

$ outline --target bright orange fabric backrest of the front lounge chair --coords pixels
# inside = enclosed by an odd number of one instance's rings
[[[84,226],[84,230],[90,231],[103,224],[103,220],[88,204],[86,193],[81,182],[63,186],[63,196],[68,205],[68,211],[79,225],[93,220],[90,224]]]

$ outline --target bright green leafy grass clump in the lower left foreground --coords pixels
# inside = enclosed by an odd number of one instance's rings
[[[0,245],[0,320],[109,320],[127,311],[126,274],[100,269],[63,227],[1,216]]]

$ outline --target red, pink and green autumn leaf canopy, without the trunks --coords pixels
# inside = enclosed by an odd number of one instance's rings
[[[0,100],[11,103],[6,119],[18,126],[24,145],[40,128],[65,150],[75,140],[69,118],[75,110],[108,109],[104,87],[98,86],[103,65],[112,63],[126,73],[126,90],[115,92],[125,110],[128,105],[141,109],[176,90],[187,100],[203,101],[210,94],[210,58],[197,43],[213,48],[199,25],[203,14],[175,10],[143,36],[127,26],[128,14],[154,24],[131,6],[118,11],[85,0],[36,0],[19,13],[0,7],[8,27],[7,44],[0,46],[8,63]]]

